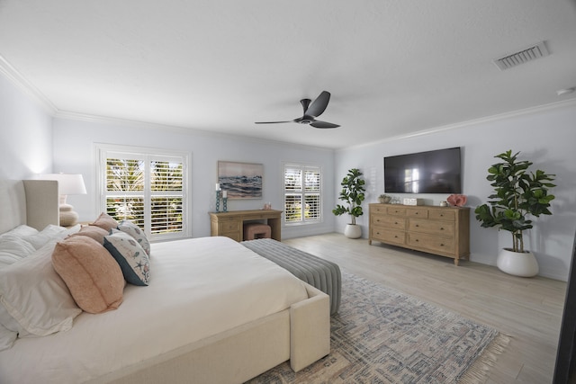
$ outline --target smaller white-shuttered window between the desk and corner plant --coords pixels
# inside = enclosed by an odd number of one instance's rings
[[[319,166],[284,165],[284,223],[310,224],[322,219]]]

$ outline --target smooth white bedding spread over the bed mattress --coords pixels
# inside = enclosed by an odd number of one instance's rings
[[[0,383],[93,380],[308,298],[302,281],[228,237],[153,244],[150,276],[126,286],[117,310],[18,339],[0,352]]]

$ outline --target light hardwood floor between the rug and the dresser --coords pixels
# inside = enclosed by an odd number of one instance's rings
[[[344,272],[401,290],[509,335],[486,383],[551,383],[566,283],[520,278],[480,263],[454,261],[327,234],[284,240],[338,263]]]

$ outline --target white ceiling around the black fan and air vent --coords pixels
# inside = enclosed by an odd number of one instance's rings
[[[545,40],[550,56],[495,58]],[[0,0],[0,71],[56,116],[347,147],[576,93],[568,0]],[[286,123],[332,94],[320,120]]]

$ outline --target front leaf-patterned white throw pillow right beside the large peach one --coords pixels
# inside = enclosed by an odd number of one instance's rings
[[[104,246],[120,264],[126,281],[134,285],[148,285],[150,279],[148,254],[134,237],[119,230],[112,230],[112,235],[104,237]]]

